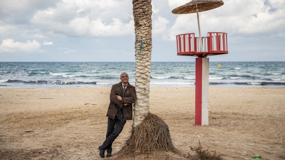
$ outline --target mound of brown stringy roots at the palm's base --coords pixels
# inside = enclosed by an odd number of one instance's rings
[[[118,155],[138,155],[153,151],[171,151],[183,154],[174,147],[171,141],[168,125],[157,115],[148,113],[143,122],[131,130],[131,136],[126,140]]]

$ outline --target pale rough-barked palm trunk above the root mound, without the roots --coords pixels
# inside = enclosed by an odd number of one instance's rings
[[[149,83],[150,83],[150,59],[152,50],[152,6],[151,0],[133,0],[133,16],[135,21],[135,87],[137,101],[134,107],[133,127],[142,122],[149,112]],[[141,41],[143,49],[140,55]]]

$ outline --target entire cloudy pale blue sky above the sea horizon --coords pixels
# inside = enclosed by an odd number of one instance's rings
[[[172,14],[191,0],[152,0],[152,61],[177,56],[178,34],[197,14]],[[285,61],[285,0],[223,0],[200,12],[202,36],[228,34],[229,54],[210,61]],[[0,0],[0,61],[135,61],[131,0]],[[143,51],[142,51],[143,52]]]

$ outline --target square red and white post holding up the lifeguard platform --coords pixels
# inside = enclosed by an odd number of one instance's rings
[[[209,125],[209,58],[196,58],[195,125]]]

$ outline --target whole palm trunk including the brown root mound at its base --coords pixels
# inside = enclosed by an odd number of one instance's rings
[[[181,153],[171,141],[168,125],[149,112],[149,83],[151,59],[151,0],[133,0],[135,21],[135,86],[137,101],[131,136],[126,140],[118,156],[152,153],[155,150]]]

